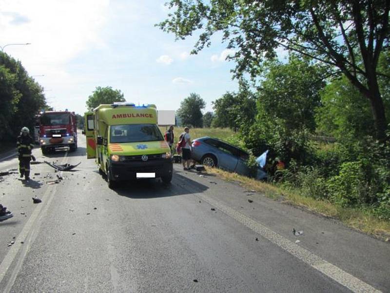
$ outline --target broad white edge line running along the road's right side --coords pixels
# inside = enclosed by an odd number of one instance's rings
[[[217,208],[221,212],[225,213],[226,215],[229,215],[230,217],[234,218],[236,221],[245,225],[252,231],[260,234],[264,238],[276,244],[281,249],[292,254],[296,258],[304,261],[312,268],[327,275],[337,283],[347,287],[352,292],[356,292],[356,293],[363,293],[363,292],[380,293],[381,292],[373,288],[369,284],[363,282],[362,280],[359,280],[358,278],[354,277],[350,273],[347,273],[341,270],[340,268],[336,267],[335,265],[327,262],[326,260],[322,259],[318,255],[315,255],[307,251],[306,249],[293,243],[289,239],[273,232],[271,229],[263,226],[259,222],[256,222],[255,220],[251,219],[250,217],[237,212],[236,210],[220,203],[219,201],[216,201],[213,198],[210,198],[207,195],[197,194],[197,196],[202,198],[204,201],[208,202],[210,205]]]

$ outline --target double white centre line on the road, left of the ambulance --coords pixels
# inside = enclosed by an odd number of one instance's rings
[[[66,161],[68,153],[65,153],[65,156],[63,157],[61,164],[64,164]],[[8,253],[5,255],[3,261],[0,264],[0,283],[2,279],[4,278],[5,274],[8,272],[8,269],[14,262],[14,259],[16,255],[18,254],[20,248],[23,249],[22,255],[20,256],[18,260],[18,264],[16,265],[15,269],[12,272],[12,275],[10,277],[10,280],[8,281],[7,286],[4,289],[5,292],[9,292],[12,289],[12,286],[14,285],[16,276],[18,275],[21,265],[23,263],[24,257],[27,255],[27,252],[34,242],[34,232],[37,232],[36,230],[39,230],[39,225],[36,225],[37,219],[39,215],[43,214],[41,213],[42,209],[45,209],[44,211],[47,211],[51,199],[53,198],[53,195],[56,193],[57,186],[56,185],[50,185],[46,189],[45,193],[42,196],[42,203],[38,204],[33,213],[31,214],[30,218],[28,219],[27,223],[24,225],[22,231],[17,236],[16,239],[18,241],[15,242],[14,245],[12,245],[11,249],[8,251]],[[20,241],[23,241],[24,243],[20,243]]]

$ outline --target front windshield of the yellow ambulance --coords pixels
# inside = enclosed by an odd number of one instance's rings
[[[156,124],[126,124],[111,126],[110,142],[140,142],[164,140]]]

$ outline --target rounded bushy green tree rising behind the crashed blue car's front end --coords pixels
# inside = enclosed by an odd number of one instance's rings
[[[284,121],[287,129],[315,130],[315,109],[321,105],[319,91],[325,86],[323,73],[307,58],[290,55],[288,63],[266,62],[258,103],[272,120]]]

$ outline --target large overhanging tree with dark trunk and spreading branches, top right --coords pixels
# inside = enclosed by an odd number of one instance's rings
[[[263,59],[273,59],[284,48],[342,73],[370,101],[376,136],[386,137],[386,115],[378,78],[381,53],[389,51],[390,0],[170,0],[172,13],[157,24],[185,39],[200,30],[192,54],[210,46],[222,32],[235,50],[235,76],[259,74]]]

